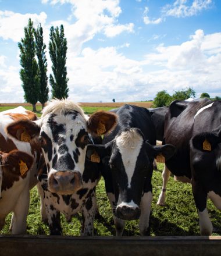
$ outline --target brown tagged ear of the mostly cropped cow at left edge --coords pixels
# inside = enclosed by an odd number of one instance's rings
[[[10,168],[19,169],[22,172],[27,172],[33,165],[33,157],[25,152],[13,150],[2,156],[2,165],[9,165]]]

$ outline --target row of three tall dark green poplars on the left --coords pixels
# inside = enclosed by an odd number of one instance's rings
[[[33,105],[33,111],[36,112],[37,102],[39,101],[44,108],[45,102],[49,99],[48,64],[41,23],[35,29],[31,19],[28,19],[28,24],[24,27],[24,38],[18,43],[18,47],[24,99]],[[49,84],[52,88],[52,98],[68,97],[66,52],[67,40],[63,25],[60,25],[60,29],[52,26],[49,34],[49,55],[53,73],[49,76]]]

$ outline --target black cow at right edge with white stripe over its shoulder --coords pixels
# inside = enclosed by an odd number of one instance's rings
[[[195,99],[173,101],[165,118],[163,144],[176,147],[165,161],[163,187],[158,204],[165,204],[166,183],[170,172],[181,182],[192,185],[201,235],[212,234],[206,201],[210,198],[221,210],[221,102]]]

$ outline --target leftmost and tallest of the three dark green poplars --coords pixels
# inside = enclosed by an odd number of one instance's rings
[[[34,27],[31,19],[27,27],[24,27],[24,38],[18,43],[20,49],[20,79],[24,90],[24,99],[33,106],[36,112],[36,103],[39,94],[38,64],[35,59]]]

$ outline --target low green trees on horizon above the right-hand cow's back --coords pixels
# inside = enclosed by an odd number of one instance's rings
[[[183,101],[183,100],[188,99],[188,98],[195,98],[195,94],[196,94],[195,90],[191,87],[188,87],[186,89],[182,89],[182,90],[179,90],[179,91],[174,91],[173,95],[170,95],[165,90],[159,91],[156,94],[156,97],[154,98],[153,105],[154,105],[155,108],[158,108],[159,106],[169,106],[170,103],[172,101],[174,101],[175,99],[177,99],[179,101]],[[208,93],[202,93],[200,98],[210,98],[210,99],[212,99]],[[212,100],[217,101],[217,100],[221,100],[221,98],[216,96]]]

